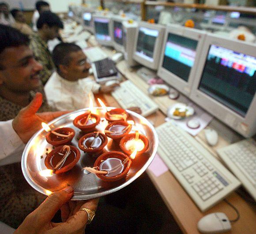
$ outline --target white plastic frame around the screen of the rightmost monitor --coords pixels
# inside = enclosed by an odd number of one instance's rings
[[[256,133],[256,95],[254,95],[246,115],[242,116],[198,89],[206,63],[208,50],[211,45],[220,46],[234,52],[240,52],[253,57],[256,56],[256,45],[242,41],[230,40],[226,37],[216,36],[212,33],[207,34],[203,45],[204,49],[200,55],[195,80],[190,93],[191,100],[200,105],[200,107],[207,110],[244,137],[251,137]]]

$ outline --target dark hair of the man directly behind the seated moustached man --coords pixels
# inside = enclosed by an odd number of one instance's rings
[[[53,26],[57,26],[61,29],[64,28],[63,22],[60,20],[60,17],[51,11],[42,12],[37,22],[37,28],[41,29],[44,24],[47,24],[50,28],[52,28]]]

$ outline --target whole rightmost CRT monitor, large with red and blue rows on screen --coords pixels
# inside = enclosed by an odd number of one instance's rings
[[[190,98],[244,137],[256,133],[256,46],[208,34]]]

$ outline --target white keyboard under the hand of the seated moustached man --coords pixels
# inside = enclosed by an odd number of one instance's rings
[[[139,107],[141,115],[145,117],[158,110],[158,105],[129,80],[122,82],[120,87],[112,92],[112,96],[124,109]]]

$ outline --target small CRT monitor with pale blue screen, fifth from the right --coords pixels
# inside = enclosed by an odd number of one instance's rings
[[[95,38],[101,45],[112,46],[112,29],[113,21],[111,15],[93,15],[93,25]]]

